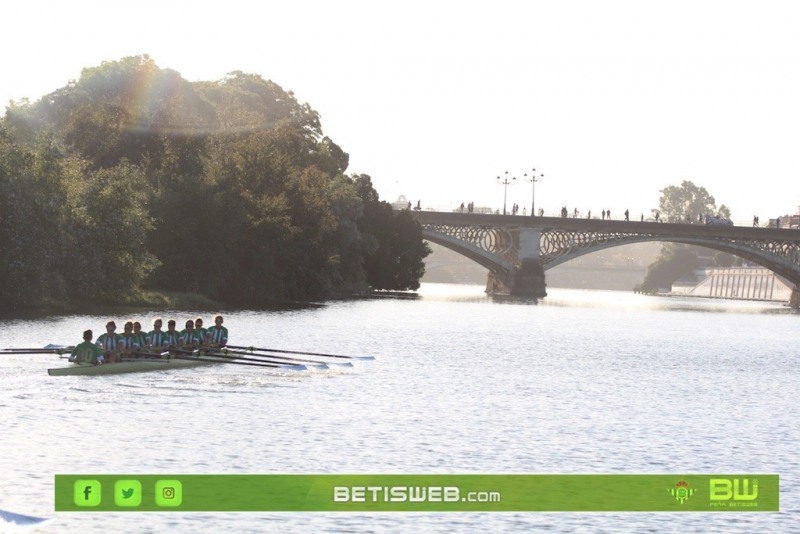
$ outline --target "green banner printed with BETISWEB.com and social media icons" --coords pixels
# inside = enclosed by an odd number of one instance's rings
[[[776,474],[55,475],[57,512],[777,512]]]

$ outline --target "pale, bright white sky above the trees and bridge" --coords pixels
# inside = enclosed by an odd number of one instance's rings
[[[390,202],[638,218],[690,180],[742,224],[800,209],[793,0],[26,0],[0,17],[4,105],[131,55],[189,81],[259,74]]]

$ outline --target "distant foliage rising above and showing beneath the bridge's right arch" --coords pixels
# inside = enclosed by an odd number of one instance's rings
[[[704,187],[684,180],[680,186],[671,185],[661,190],[658,212],[662,221],[690,222],[702,224],[699,216],[716,215],[730,217],[730,210],[724,204],[717,208],[714,197]],[[700,256],[703,248],[681,243],[665,243],[661,247],[661,255],[647,268],[644,281],[637,290],[654,293],[659,289],[667,289],[675,280],[700,268]],[[707,252],[707,250],[706,250]],[[719,265],[731,265],[734,257],[720,253],[713,261]]]

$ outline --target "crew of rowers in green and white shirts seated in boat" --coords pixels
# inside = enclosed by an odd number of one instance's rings
[[[203,327],[203,319],[186,321],[186,327],[178,332],[175,321],[153,321],[153,330],[143,332],[138,321],[125,323],[124,332],[117,334],[114,321],[106,323],[106,333],[92,343],[92,331],[83,333],[83,343],[77,345],[70,361],[94,364],[115,363],[123,358],[160,357],[165,351],[194,351],[197,349],[219,349],[228,343],[228,329],[222,326],[222,316],[214,317],[214,326]]]

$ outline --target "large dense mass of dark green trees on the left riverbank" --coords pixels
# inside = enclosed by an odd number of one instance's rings
[[[190,83],[147,56],[84,69],[0,120],[0,307],[416,289],[419,225],[347,166],[260,76]]]

